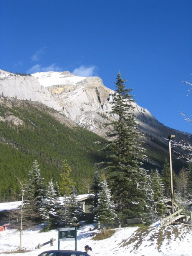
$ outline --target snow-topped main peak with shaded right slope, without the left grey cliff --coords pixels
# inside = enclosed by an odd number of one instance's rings
[[[97,76],[78,77],[69,71],[35,73],[33,76],[59,102],[63,115],[84,129],[106,137],[106,132],[110,131],[111,127],[106,127],[105,123],[116,118],[116,116],[109,114],[111,111],[110,101],[113,99],[114,91],[104,86],[101,78]],[[50,86],[47,83],[48,79],[51,81]],[[133,105],[139,129],[146,136],[145,147],[147,148],[149,163],[157,166],[159,164],[163,165],[164,159],[169,157],[168,141],[166,139],[170,134],[174,134],[177,141],[184,140],[192,143],[191,134],[166,127],[159,123],[147,109],[138,106],[136,103],[133,103]],[[153,151],[156,151],[156,157],[153,156]],[[173,158],[176,159],[177,156],[173,154]],[[176,171],[178,171],[182,164],[178,164],[176,160],[174,161]]]

